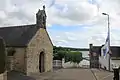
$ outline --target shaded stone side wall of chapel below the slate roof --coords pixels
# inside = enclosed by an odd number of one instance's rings
[[[15,50],[13,56],[7,56],[7,68],[8,70],[25,72],[25,48],[15,48]]]

